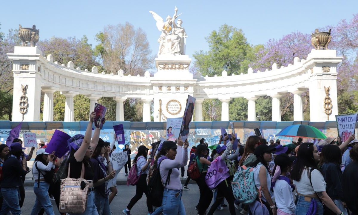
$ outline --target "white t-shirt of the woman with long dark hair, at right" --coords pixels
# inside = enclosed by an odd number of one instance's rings
[[[301,175],[300,181],[293,181],[293,184],[296,185],[297,192],[302,195],[311,195],[315,194],[315,192],[323,192],[326,191],[326,182],[324,181],[323,175],[318,169],[314,169],[311,173],[311,182],[309,178],[309,169],[304,169]]]

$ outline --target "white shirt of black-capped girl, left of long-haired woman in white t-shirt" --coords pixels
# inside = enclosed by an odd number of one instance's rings
[[[284,180],[277,180],[274,186],[277,208],[287,214],[295,214],[296,205],[293,200],[292,187]]]

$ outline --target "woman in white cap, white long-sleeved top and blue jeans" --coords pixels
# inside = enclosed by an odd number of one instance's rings
[[[50,154],[50,159],[47,162],[49,153],[45,152],[45,149],[38,149],[36,152],[36,158],[33,164],[33,167],[35,168],[32,168],[32,173],[35,178],[34,193],[36,195],[36,200],[32,208],[31,215],[37,215],[41,210],[41,206],[45,210],[46,214],[54,215],[51,200],[48,194],[50,183],[45,180],[45,175],[50,174],[53,161],[56,159],[54,153],[55,152],[53,151],[52,154]]]

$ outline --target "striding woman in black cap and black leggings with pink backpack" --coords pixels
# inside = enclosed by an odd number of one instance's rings
[[[131,199],[127,207],[122,211],[123,214],[130,215],[130,210],[132,207],[139,201],[143,193],[147,197],[147,207],[149,214],[153,213],[153,206],[151,205],[150,199],[148,198],[148,186],[146,182],[146,178],[150,169],[151,158],[147,159],[148,156],[148,148],[144,145],[138,147],[138,153],[133,160],[133,166],[137,167],[137,176],[139,176],[139,180],[136,184],[136,192],[135,196]]]

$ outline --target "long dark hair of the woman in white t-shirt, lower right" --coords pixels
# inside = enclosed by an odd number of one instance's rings
[[[305,168],[314,168],[318,169],[317,164],[313,157],[313,149],[314,144],[313,143],[302,143],[300,145],[300,148],[298,148],[297,152],[297,161],[295,166],[293,167],[291,171],[291,178],[295,181],[300,181],[302,172]],[[308,175],[308,169],[307,169],[307,175]]]

